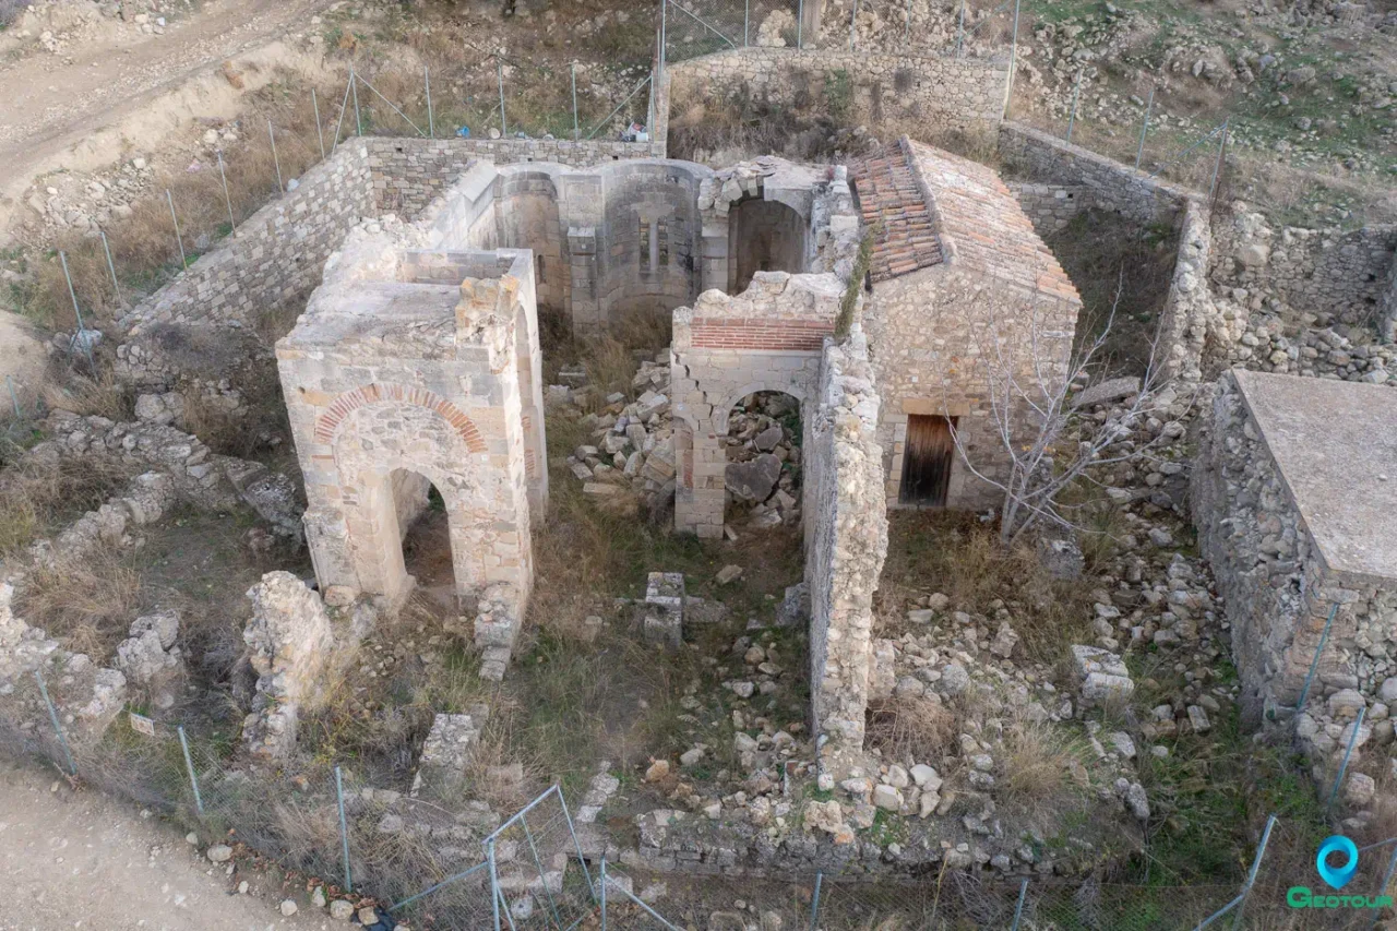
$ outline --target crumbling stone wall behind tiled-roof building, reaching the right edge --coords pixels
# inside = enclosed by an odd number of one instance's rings
[[[1391,341],[1383,322],[1397,313],[1393,226],[1277,233],[1245,204],[1208,210],[1196,192],[1010,120],[999,151],[1031,179],[1014,189],[1039,233],[1060,229],[1069,200],[1179,231],[1161,317],[1166,375],[1194,384],[1228,365],[1379,383],[1397,375],[1397,349],[1372,345],[1373,335]]]

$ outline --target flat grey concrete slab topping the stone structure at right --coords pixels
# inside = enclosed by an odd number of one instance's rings
[[[1397,391],[1234,375],[1324,565],[1369,583],[1397,579]]]

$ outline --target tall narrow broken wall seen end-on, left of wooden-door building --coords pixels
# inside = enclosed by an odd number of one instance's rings
[[[868,342],[826,341],[819,407],[806,446],[806,520],[813,524],[810,684],[821,773],[841,780],[861,765],[872,661],[873,591],[887,556],[880,398]]]

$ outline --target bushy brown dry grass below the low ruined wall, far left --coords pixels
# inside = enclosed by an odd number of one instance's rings
[[[99,549],[81,559],[35,568],[18,593],[15,612],[31,626],[63,640],[94,663],[105,663],[148,607],[141,573],[119,555]]]

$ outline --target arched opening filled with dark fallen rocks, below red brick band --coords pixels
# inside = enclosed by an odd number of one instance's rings
[[[724,524],[736,533],[796,527],[802,514],[805,431],[800,401],[785,391],[753,391],[728,410],[721,436]]]

